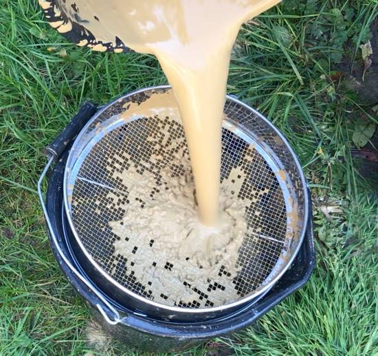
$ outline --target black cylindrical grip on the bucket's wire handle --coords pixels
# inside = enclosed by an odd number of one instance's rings
[[[57,160],[96,111],[97,107],[92,102],[82,104],[82,107],[80,107],[74,118],[71,119],[71,122],[69,122],[55,140],[43,150],[45,155],[54,157],[54,160]]]

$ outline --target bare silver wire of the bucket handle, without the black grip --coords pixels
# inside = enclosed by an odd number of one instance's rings
[[[59,256],[65,261],[65,263],[67,264],[67,266],[69,267],[69,269],[71,269],[71,271],[76,274],[76,276],[89,288],[89,290],[96,295],[96,297],[98,299],[100,299],[102,301],[102,303],[104,303],[104,305],[106,305],[107,307],[107,310],[105,310],[102,305],[100,303],[96,304],[96,307],[98,309],[98,311],[100,311],[102,317],[111,325],[116,325],[118,324],[122,318],[120,317],[120,313],[118,313],[118,311],[113,307],[112,304],[110,304],[106,298],[104,298],[104,296],[102,295],[102,293],[100,293],[100,291],[98,291],[98,289],[96,287],[93,286],[93,284],[87,280],[87,278],[85,278],[84,276],[82,276],[82,274],[80,274],[80,272],[76,269],[76,267],[74,265],[72,265],[72,263],[69,261],[69,259],[67,258],[67,256],[65,256],[65,254],[63,253],[62,249],[60,248],[60,245],[58,244],[58,238],[56,237],[56,234],[54,232],[54,228],[52,227],[52,222],[49,218],[49,214],[47,212],[47,208],[46,208],[46,205],[45,205],[45,199],[43,197],[43,192],[42,192],[42,182],[43,182],[43,179],[45,178],[45,175],[47,173],[47,170],[49,170],[49,167],[52,165],[52,162],[54,162],[54,155],[51,155],[49,157],[49,161],[47,162],[46,166],[45,166],[45,169],[43,170],[43,172],[41,173],[41,177],[39,177],[38,179],[38,196],[39,196],[39,200],[41,201],[41,205],[42,205],[42,209],[43,209],[43,214],[45,215],[45,220],[46,220],[46,224],[47,224],[47,228],[49,229],[49,232],[50,232],[50,235],[52,237],[52,240],[54,241],[54,244],[55,244],[55,247],[56,247],[56,251],[58,252]],[[109,317],[109,313],[111,313],[111,317]]]

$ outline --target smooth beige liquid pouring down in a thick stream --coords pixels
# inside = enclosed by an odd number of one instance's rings
[[[46,2],[41,5],[46,6]],[[204,225],[219,219],[221,124],[232,45],[241,25],[280,0],[67,0],[100,41],[118,36],[154,54],[173,87]],[[96,16],[96,17],[95,17]],[[67,32],[65,24],[56,24]],[[82,43],[85,44],[85,43]],[[93,49],[104,50],[97,45]],[[127,76],[127,73],[125,74]]]

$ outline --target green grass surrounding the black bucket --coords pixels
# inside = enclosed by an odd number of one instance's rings
[[[343,53],[362,62],[377,14],[376,0],[286,0],[243,27],[228,91],[265,113],[298,154],[318,264],[249,329],[188,355],[378,355],[377,198],[350,152],[356,122],[378,118],[337,74]],[[49,249],[36,181],[41,148],[83,100],[165,83],[153,57],[92,53],[52,30],[34,1],[0,0],[0,355],[140,355],[91,339],[89,310]]]

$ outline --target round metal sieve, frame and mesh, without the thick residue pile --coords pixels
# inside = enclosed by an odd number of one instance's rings
[[[124,218],[129,203],[129,170],[159,177],[162,169],[184,174],[190,166],[172,164],[172,142],[188,155],[180,122],[169,116],[146,116],[151,100],[164,100],[170,87],[142,89],[104,107],[82,129],[71,148],[64,175],[64,203],[69,225],[93,270],[102,275],[115,294],[136,298],[138,309],[175,313],[208,313],[236,307],[269,290],[289,268],[302,243],[307,225],[307,188],[298,159],[282,135],[262,115],[227,96],[222,131],[221,182],[231,177],[235,199],[247,201],[247,234],[238,249],[238,274],[230,281],[224,265],[216,280],[194,288],[192,300],[172,300],[172,291],[154,293],[154,282],[169,278],[175,261],[156,265],[146,283],[135,277],[133,258],[153,249],[138,243],[116,254],[120,240],[109,223]],[[150,104],[148,104],[150,102]],[[175,146],[177,148],[178,146]],[[159,154],[159,159],[151,159]],[[155,155],[155,156],[154,156]],[[135,179],[135,177],[134,177]],[[159,179],[157,179],[159,181]],[[139,197],[140,209],[159,186]],[[126,216],[127,219],[127,216]],[[162,221],[162,223],[164,223]],[[155,266],[154,266],[155,265]],[[164,274],[159,274],[164,268]],[[190,282],[181,281],[190,288]],[[227,287],[225,287],[227,286]],[[232,289],[232,290],[231,290]],[[147,308],[148,309],[148,308]]]

